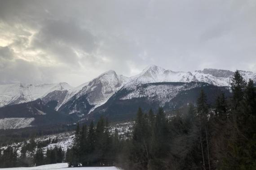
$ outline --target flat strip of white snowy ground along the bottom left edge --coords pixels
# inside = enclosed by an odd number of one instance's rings
[[[114,166],[111,167],[77,167],[68,168],[67,163],[49,164],[36,167],[3,168],[1,170],[120,170]]]

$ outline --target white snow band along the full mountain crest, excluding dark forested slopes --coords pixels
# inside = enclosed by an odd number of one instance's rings
[[[239,71],[246,81],[251,78],[256,81],[256,73]],[[220,69],[203,69],[194,72],[174,72],[155,65],[145,68],[140,74],[132,77],[117,75],[110,70],[97,76],[92,81],[86,82],[78,87],[72,88],[67,83],[44,84],[44,85],[0,85],[0,107],[8,104],[29,102],[43,98],[54,90],[68,90],[62,103],[59,103],[56,110],[59,110],[69,101],[74,101],[81,96],[87,95],[87,100],[94,107],[106,103],[108,99],[119,89],[135,89],[138,85],[156,82],[205,82],[217,86],[230,86],[230,78],[234,72]],[[136,93],[136,92],[134,92]],[[135,95],[135,94],[134,94]],[[78,109],[79,110],[79,109]],[[71,110],[70,114],[77,110]]]

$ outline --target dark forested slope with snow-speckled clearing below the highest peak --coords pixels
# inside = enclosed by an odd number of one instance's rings
[[[195,104],[201,89],[207,94],[209,103],[215,101],[217,91],[230,96],[228,87],[203,82],[158,82],[141,84],[134,88],[124,86],[106,103],[93,110],[88,118],[99,119],[104,115],[112,121],[132,119],[136,116],[138,107],[154,110],[163,106],[166,111],[174,110],[188,103]]]

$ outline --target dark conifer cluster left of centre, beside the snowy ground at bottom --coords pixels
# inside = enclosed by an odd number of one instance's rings
[[[117,130],[110,133],[108,121],[103,117],[94,127],[77,125],[73,147],[66,151],[66,161],[70,167],[76,166],[113,166],[119,150]]]

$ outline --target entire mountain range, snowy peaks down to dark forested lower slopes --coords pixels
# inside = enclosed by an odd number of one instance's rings
[[[239,72],[246,81],[256,81],[256,73]],[[76,120],[95,119],[99,115],[128,119],[134,115],[131,106],[145,109],[163,106],[166,110],[173,110],[195,102],[192,96],[196,98],[202,88],[209,95],[210,102],[217,95],[213,93],[216,89],[229,95],[233,75],[234,72],[229,70],[206,68],[194,72],[173,72],[150,65],[132,77],[117,75],[110,70],[78,87],[67,83],[0,85],[0,118],[5,118],[7,112],[13,114],[11,117],[24,118],[42,112],[47,114],[47,110],[51,110],[51,114],[56,112]],[[36,101],[35,105],[33,101]],[[28,102],[32,104],[28,105]],[[32,115],[20,113],[17,107],[23,108],[23,112],[30,110]]]

